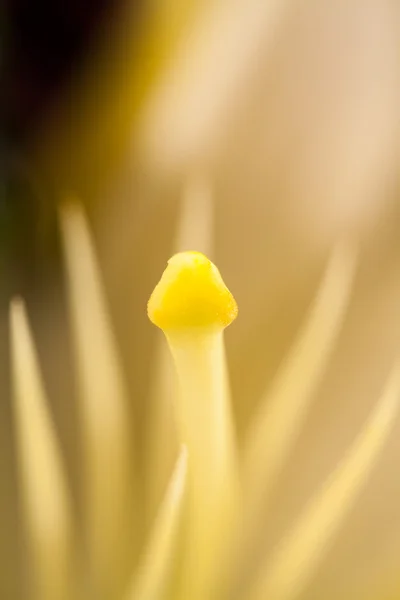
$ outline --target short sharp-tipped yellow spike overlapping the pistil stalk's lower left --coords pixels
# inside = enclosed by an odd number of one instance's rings
[[[167,600],[187,486],[187,450],[182,448],[138,573],[126,600]]]

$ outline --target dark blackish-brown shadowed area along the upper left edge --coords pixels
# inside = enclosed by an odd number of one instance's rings
[[[57,270],[54,205],[25,151],[46,126],[98,28],[124,0],[4,0],[0,136],[0,294],[27,294]],[[140,2],[136,2],[139,7]],[[135,9],[136,10],[136,9]],[[42,190],[43,191],[43,190]],[[42,194],[43,195],[43,194]],[[5,290],[3,288],[6,288]]]

